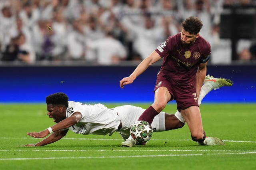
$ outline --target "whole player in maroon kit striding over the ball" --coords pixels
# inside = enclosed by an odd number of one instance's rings
[[[169,101],[176,100],[177,109],[188,124],[192,140],[201,145],[224,145],[218,138],[206,138],[197,101],[211,54],[209,42],[199,35],[202,26],[199,18],[187,18],[182,22],[181,32],[168,37],[130,76],[120,80],[120,87],[131,84],[149,66],[163,58],[154,89],[154,103],[138,120],[151,124],[154,116],[160,113]],[[132,138],[122,142],[122,146],[127,147],[134,144]]]

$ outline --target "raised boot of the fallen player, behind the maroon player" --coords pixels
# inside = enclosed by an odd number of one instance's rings
[[[210,75],[207,75],[204,80],[204,86],[209,87],[214,90],[216,90],[222,86],[232,86],[232,85],[233,85],[233,82],[229,79],[215,78]]]

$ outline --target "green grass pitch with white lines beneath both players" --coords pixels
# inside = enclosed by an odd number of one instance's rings
[[[109,108],[120,104],[106,104]],[[134,104],[147,108],[150,104]],[[112,136],[68,132],[43,147],[22,147],[40,141],[26,132],[54,124],[45,104],[0,104],[0,170],[255,170],[256,104],[202,104],[206,136],[225,146],[199,146],[188,126],[155,132],[146,146],[122,148],[118,132]],[[168,104],[165,112],[176,112]]]

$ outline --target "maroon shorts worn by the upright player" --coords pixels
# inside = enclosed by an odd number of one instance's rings
[[[167,77],[158,74],[154,91],[160,87],[166,87],[168,89],[172,96],[171,100],[176,100],[179,112],[180,110],[184,110],[190,106],[199,107],[195,86],[179,86]]]

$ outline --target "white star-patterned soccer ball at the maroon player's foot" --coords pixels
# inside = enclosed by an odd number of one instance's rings
[[[130,132],[132,138],[140,143],[150,140],[153,134],[153,129],[148,122],[139,120],[132,125]]]

